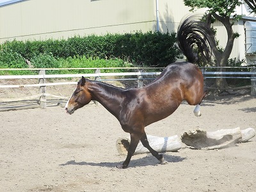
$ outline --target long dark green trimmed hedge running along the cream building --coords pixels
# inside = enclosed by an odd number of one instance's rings
[[[39,63],[33,63],[33,65],[40,65],[41,67],[56,67],[60,64],[56,63],[55,60],[70,57],[104,60],[119,58],[139,66],[165,67],[181,56],[175,44],[175,35],[175,33],[152,31],[142,33],[137,31],[136,33],[125,33],[124,35],[74,36],[67,40],[28,40],[26,42],[13,40],[3,44],[4,51],[1,51],[0,57],[3,58],[11,54],[11,58],[13,58],[13,55],[17,54],[15,57],[19,58],[15,58],[13,62],[20,61],[22,60],[21,58],[23,58],[23,61],[26,59],[33,62],[40,61]],[[44,61],[48,60],[51,60],[52,63],[44,63]],[[10,61],[8,62],[10,63]],[[0,67],[3,67],[3,62],[0,65]],[[10,64],[8,65],[8,67],[11,67]]]

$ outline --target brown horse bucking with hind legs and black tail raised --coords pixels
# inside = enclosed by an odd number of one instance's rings
[[[172,63],[152,83],[129,90],[82,77],[65,106],[67,113],[72,114],[91,100],[97,100],[118,119],[122,129],[131,134],[127,158],[118,168],[127,168],[139,141],[161,164],[166,163],[163,155],[150,147],[145,127],[171,115],[182,100],[196,105],[194,113],[200,116],[199,105],[205,96],[204,77],[193,64],[196,54],[192,49],[197,45],[205,58],[209,58],[210,34],[211,29],[204,23],[188,17],[180,24],[177,38],[180,49],[191,63]]]

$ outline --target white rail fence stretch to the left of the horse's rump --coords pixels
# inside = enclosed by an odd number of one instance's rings
[[[125,70],[136,70],[137,72],[122,72],[122,73],[102,73],[100,70],[115,70],[115,69],[125,69]],[[150,68],[0,68],[0,70],[37,70],[39,71],[38,75],[23,75],[23,76],[0,76],[0,79],[38,79],[38,83],[36,84],[0,84],[0,88],[23,88],[23,87],[39,87],[39,93],[36,95],[31,95],[28,97],[22,97],[17,99],[1,99],[0,102],[14,102],[20,100],[31,100],[39,98],[40,107],[46,108],[46,97],[56,97],[58,99],[68,99],[68,97],[60,97],[56,95],[51,95],[49,93],[45,93],[45,86],[56,86],[56,85],[63,85],[63,84],[77,84],[77,82],[55,82],[55,83],[46,83],[47,79],[65,79],[70,77],[93,77],[97,81],[118,81],[118,80],[138,80],[138,87],[143,86],[143,76],[157,76],[161,72],[143,72],[143,70],[147,70]],[[161,68],[154,68],[161,69]],[[46,70],[95,70],[95,73],[88,73],[88,74],[45,74]],[[120,79],[110,79],[108,77],[113,76],[122,76]],[[129,78],[124,78],[129,76]],[[101,79],[101,77],[106,77],[106,79]],[[132,78],[131,78],[132,77]],[[58,81],[58,80],[57,80]]]

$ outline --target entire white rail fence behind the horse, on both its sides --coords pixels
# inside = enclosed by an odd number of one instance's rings
[[[217,67],[215,67],[217,68]],[[241,67],[239,67],[241,68]],[[234,78],[234,79],[250,79],[251,84],[247,87],[251,87],[251,95],[256,96],[255,90],[255,83],[256,83],[256,70],[255,67],[246,67],[246,69],[250,71],[246,72],[218,72],[212,71],[212,67],[210,68],[201,68],[202,73],[204,74],[205,79],[216,79],[216,78]],[[115,70],[115,69],[125,69],[125,70],[136,70],[136,72],[109,72],[109,73],[102,73],[100,70]],[[29,100],[39,98],[41,108],[46,108],[46,97],[56,97],[59,99],[67,99],[67,97],[60,97],[56,95],[50,95],[45,93],[45,86],[53,86],[53,85],[61,85],[61,84],[77,84],[77,82],[56,82],[56,83],[47,83],[46,79],[63,79],[69,77],[93,77],[97,81],[122,81],[122,80],[133,80],[138,81],[138,87],[143,86],[143,81],[145,79],[154,79],[156,76],[161,74],[161,72],[146,72],[146,70],[161,70],[163,68],[0,68],[2,70],[37,70],[39,71],[38,75],[24,75],[24,76],[0,76],[0,79],[38,79],[38,83],[36,84],[0,84],[0,88],[20,88],[20,87],[40,87],[40,92],[37,95],[32,95],[29,97],[17,98],[17,99],[1,99],[0,102],[13,102],[15,100]],[[226,67],[226,70],[234,69],[234,67]],[[88,74],[45,74],[46,70],[95,70],[95,73],[88,73]],[[211,71],[209,71],[211,70]],[[109,77],[120,77],[119,79],[109,79]],[[125,78],[129,76],[129,78]],[[148,77],[151,76],[151,77]],[[102,79],[105,77],[105,79]]]

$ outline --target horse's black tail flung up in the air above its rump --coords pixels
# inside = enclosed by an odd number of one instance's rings
[[[211,42],[214,40],[212,30],[205,22],[202,22],[195,15],[191,15],[180,22],[177,32],[177,42],[180,50],[190,63],[198,60],[198,54],[193,48],[198,49],[202,56],[211,60]],[[196,47],[195,47],[196,46]]]

